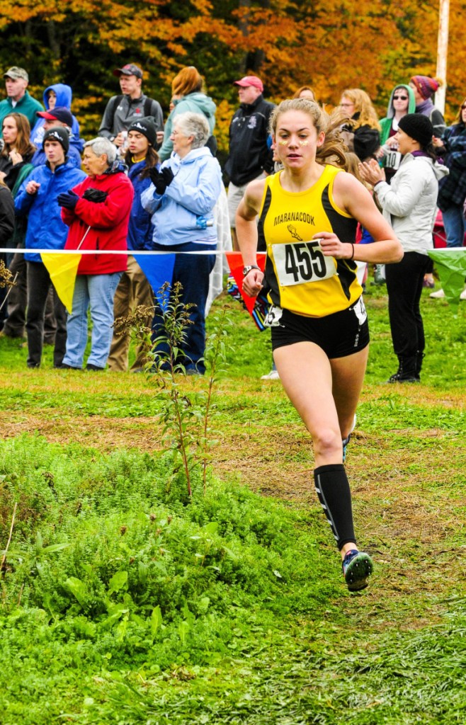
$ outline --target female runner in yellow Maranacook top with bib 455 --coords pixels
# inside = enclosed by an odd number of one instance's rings
[[[344,164],[344,146],[317,103],[283,101],[270,125],[284,168],[252,181],[238,207],[244,290],[254,296],[264,281],[256,260],[260,215],[275,364],[312,436],[317,495],[341,552],[346,584],[357,591],[367,587],[373,563],[357,549],[343,463],[369,344],[355,260],[399,262],[403,250],[367,189],[333,165]],[[358,222],[376,244],[354,244]]]

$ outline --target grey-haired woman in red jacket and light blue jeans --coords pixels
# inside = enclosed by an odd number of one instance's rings
[[[62,219],[70,227],[65,249],[126,251],[133,185],[116,158],[117,149],[107,138],[95,138],[85,145],[83,165],[88,178],[58,197]],[[63,368],[83,367],[90,307],[91,355],[86,368],[104,370],[112,341],[113,298],[126,265],[126,254],[81,257],[67,320]]]

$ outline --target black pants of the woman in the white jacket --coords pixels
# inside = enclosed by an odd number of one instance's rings
[[[398,357],[412,357],[425,347],[419,301],[428,260],[427,254],[405,252],[401,262],[385,268],[391,339]]]

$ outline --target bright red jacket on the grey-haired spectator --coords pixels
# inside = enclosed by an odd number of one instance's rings
[[[121,165],[99,176],[88,176],[73,188],[80,196],[74,210],[62,208],[62,220],[70,227],[65,249],[127,249],[128,222],[133,204],[133,184]],[[107,191],[104,202],[83,199],[87,188]],[[83,254],[78,274],[111,274],[127,267],[126,254]]]

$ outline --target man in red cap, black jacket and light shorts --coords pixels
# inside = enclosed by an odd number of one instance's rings
[[[235,216],[244,190],[249,181],[273,171],[272,151],[267,139],[269,119],[275,106],[264,100],[264,86],[257,75],[245,75],[241,80],[235,80],[234,85],[238,86],[241,105],[230,123],[230,152],[225,171],[230,177],[228,213],[233,249],[238,249]]]

